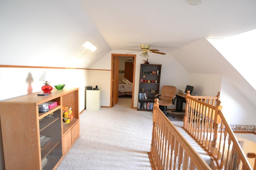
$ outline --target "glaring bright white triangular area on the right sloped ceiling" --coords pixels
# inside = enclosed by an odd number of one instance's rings
[[[256,89],[256,29],[226,39],[207,39],[225,59]]]

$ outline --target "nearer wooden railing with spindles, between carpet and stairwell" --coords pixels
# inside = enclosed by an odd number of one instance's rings
[[[148,153],[152,169],[211,170],[176,127],[159,109],[155,99],[151,149]]]

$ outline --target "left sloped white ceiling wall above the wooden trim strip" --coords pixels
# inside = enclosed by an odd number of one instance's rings
[[[110,51],[79,0],[4,0],[0,20],[1,64],[87,68]]]

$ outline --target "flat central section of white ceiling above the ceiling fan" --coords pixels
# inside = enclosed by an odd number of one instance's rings
[[[255,0],[80,0],[110,48],[170,52],[202,38],[225,38],[256,28]]]

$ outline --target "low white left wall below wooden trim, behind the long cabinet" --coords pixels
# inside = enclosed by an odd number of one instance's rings
[[[0,68],[0,89],[2,94],[0,100],[14,98],[28,94],[28,74],[32,74],[33,92],[42,91],[44,85],[39,81],[40,76],[47,72],[51,74],[50,85],[54,88],[57,84],[66,84],[64,88],[79,88],[79,111],[84,109],[84,87],[87,86],[88,70],[84,69],[42,69],[42,68]]]

